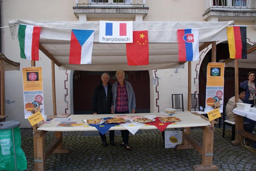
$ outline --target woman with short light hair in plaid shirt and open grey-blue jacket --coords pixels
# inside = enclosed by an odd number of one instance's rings
[[[114,114],[134,114],[135,113],[135,95],[132,89],[131,83],[124,80],[125,72],[122,70],[116,71],[117,81],[112,85],[112,94],[113,94],[113,105],[112,113]],[[122,143],[120,146],[128,151],[131,151],[131,148],[128,145],[129,140],[129,131],[121,130],[122,133]]]

